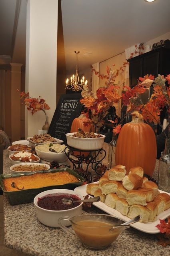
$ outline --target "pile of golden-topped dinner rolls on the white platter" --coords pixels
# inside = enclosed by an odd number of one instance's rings
[[[98,184],[88,184],[86,192],[100,196],[101,202],[129,218],[141,215],[140,222],[154,221],[170,208],[170,196],[160,193],[158,186],[143,175],[140,166],[131,168],[126,175],[125,166],[119,164],[106,171]]]

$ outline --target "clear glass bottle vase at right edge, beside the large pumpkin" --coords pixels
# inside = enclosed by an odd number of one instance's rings
[[[159,160],[158,188],[170,193],[170,139],[165,140],[165,150]]]

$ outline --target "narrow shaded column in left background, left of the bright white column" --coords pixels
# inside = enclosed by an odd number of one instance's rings
[[[19,63],[11,64],[11,140],[20,140],[21,137],[21,116],[20,116],[20,95],[21,88],[21,66]]]

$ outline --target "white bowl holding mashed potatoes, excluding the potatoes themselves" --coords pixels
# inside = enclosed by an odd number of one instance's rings
[[[44,152],[35,147],[36,154],[43,160],[48,162],[57,161],[58,163],[65,162],[68,158],[65,153],[55,153],[55,152]]]

